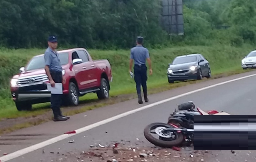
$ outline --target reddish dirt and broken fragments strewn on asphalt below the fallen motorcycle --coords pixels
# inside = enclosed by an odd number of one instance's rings
[[[186,151],[178,152],[170,148],[125,147],[123,145],[101,148],[97,145],[97,147],[90,148],[87,151],[62,154],[64,156],[58,157],[58,159],[62,158],[62,162],[199,162],[204,161],[204,154],[208,154],[208,152],[192,150],[189,154],[190,157]]]

